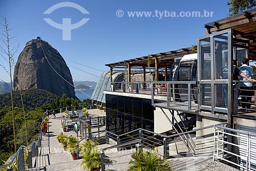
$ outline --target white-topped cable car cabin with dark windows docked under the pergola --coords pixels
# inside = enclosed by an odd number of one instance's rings
[[[180,61],[174,62],[171,81],[195,81],[197,80],[197,53],[184,55]],[[175,100],[187,101],[187,84],[175,84]],[[191,86],[191,95],[195,103],[198,102],[197,84]]]

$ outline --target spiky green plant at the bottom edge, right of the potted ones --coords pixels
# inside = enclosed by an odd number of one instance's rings
[[[166,159],[161,159],[156,151],[143,152],[142,149],[139,149],[139,152],[135,152],[132,155],[128,171],[169,171],[171,168],[170,162]]]

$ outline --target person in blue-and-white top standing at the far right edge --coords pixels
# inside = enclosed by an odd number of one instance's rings
[[[243,59],[243,65],[239,67],[239,70],[242,71],[248,78],[254,79],[253,69],[248,66],[249,59]],[[240,80],[246,80],[240,77]],[[240,82],[240,90],[241,90],[241,103],[243,111],[251,109],[251,96],[253,94],[253,84],[252,82]]]

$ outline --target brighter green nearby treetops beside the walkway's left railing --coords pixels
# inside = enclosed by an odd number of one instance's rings
[[[40,132],[41,117],[43,110],[37,109],[34,111],[25,110],[25,118],[27,123],[28,141],[35,140],[36,134]],[[16,134],[16,146],[26,145],[26,133],[23,109],[14,108],[14,122]],[[11,107],[6,106],[0,109],[0,160],[6,161],[14,152],[14,140],[12,129],[12,114]],[[6,154],[6,155],[2,155]],[[2,164],[2,163],[1,163]]]

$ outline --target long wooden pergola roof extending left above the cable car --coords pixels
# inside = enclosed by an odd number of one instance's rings
[[[155,59],[158,59],[158,67],[164,68],[165,66],[172,66],[174,59],[177,57],[182,57],[185,54],[193,53],[191,48],[182,48],[174,51],[161,52],[157,54],[151,54],[147,56],[142,56],[134,59],[127,59],[115,63],[108,63],[105,66],[108,67],[126,67],[129,63],[130,67],[148,67],[148,58],[151,61],[151,67],[155,67]]]

